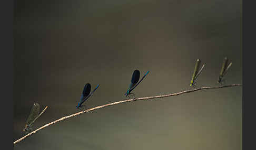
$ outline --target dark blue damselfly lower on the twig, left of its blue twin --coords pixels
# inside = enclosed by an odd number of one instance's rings
[[[89,97],[91,97],[91,95],[93,94],[93,92],[96,91],[96,89],[100,86],[100,84],[97,85],[97,87],[91,92],[91,84],[90,83],[86,83],[84,85],[84,89],[80,98],[80,101],[77,103],[76,105],[76,109],[80,109],[82,108],[82,105]],[[91,92],[91,93],[90,93]],[[81,109],[80,109],[81,110]],[[82,110],[81,110],[82,111]]]

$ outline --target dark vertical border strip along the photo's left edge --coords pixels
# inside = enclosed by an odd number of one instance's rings
[[[13,17],[14,1],[0,2],[2,149],[13,149]]]

